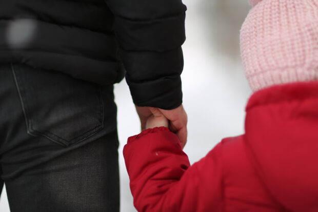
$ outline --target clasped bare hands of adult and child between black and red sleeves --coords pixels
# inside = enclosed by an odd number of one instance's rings
[[[142,130],[146,129],[146,125],[147,128],[166,126],[166,119],[168,119],[169,129],[177,135],[182,147],[186,145],[188,118],[182,105],[172,110],[136,106],[136,110],[141,121]]]

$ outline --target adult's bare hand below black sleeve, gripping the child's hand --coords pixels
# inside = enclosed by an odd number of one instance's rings
[[[136,106],[136,110],[141,121],[142,130],[144,130],[146,128],[147,120],[151,117],[152,112],[150,111],[149,107]],[[179,107],[172,110],[159,110],[169,120],[169,129],[177,135],[183,148],[187,143],[188,135],[188,117],[183,106],[180,105]]]

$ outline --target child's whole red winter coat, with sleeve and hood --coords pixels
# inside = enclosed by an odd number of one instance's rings
[[[243,136],[190,166],[175,134],[154,128],[124,148],[138,211],[318,211],[318,83],[256,92]]]

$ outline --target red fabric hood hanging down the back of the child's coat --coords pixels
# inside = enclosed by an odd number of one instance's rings
[[[275,86],[252,95],[246,143],[272,198],[291,211],[318,211],[318,83]]]

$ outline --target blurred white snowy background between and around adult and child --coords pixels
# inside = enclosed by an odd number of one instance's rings
[[[183,0],[187,5],[187,41],[183,45],[184,107],[188,144],[194,163],[225,137],[244,132],[245,104],[251,94],[240,58],[240,28],[250,6],[247,0]],[[115,85],[121,171],[121,211],[135,212],[122,156],[127,138],[140,132],[140,122],[125,81]],[[9,212],[5,189],[0,211]]]

